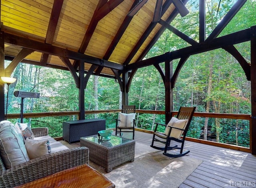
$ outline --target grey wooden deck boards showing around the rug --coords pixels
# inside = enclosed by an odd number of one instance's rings
[[[123,135],[123,137],[132,138],[132,135]],[[152,134],[136,131],[134,140],[150,145]],[[69,147],[77,146],[80,146],[80,142],[69,145]],[[180,188],[256,187],[256,156],[190,141],[185,141],[184,149],[190,150],[188,154],[190,157],[198,158],[203,162],[180,185]]]

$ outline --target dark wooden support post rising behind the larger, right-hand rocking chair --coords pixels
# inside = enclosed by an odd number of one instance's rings
[[[165,55],[165,123],[167,124],[172,117],[171,111],[173,111],[173,89],[171,87],[171,78],[173,75],[173,71],[172,61],[170,61],[170,53],[166,52]]]

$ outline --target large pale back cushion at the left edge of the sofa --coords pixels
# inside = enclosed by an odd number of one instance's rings
[[[6,169],[30,160],[22,135],[10,121],[0,122],[0,154]]]

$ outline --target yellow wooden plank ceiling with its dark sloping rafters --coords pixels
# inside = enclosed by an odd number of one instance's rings
[[[5,40],[4,45],[6,59],[12,60],[19,54],[20,58],[25,57],[22,62],[61,69],[68,69],[65,61],[70,61],[76,69],[78,64],[74,56],[66,56],[68,59],[61,57],[74,51],[109,63],[109,66],[103,67],[85,62],[86,71],[92,67],[91,70],[98,75],[112,76],[116,65],[142,60],[154,44],[152,40],[159,37],[156,35],[162,26],[152,23],[156,0],[148,0],[135,16],[127,16],[138,2],[1,0],[1,31],[4,31],[6,38],[10,38],[9,41]],[[176,12],[172,1],[163,0],[162,20],[170,20],[170,17],[178,14]],[[13,36],[17,36],[15,42],[12,42]],[[24,45],[17,42],[21,39]],[[41,43],[48,46],[39,47]],[[24,47],[32,49],[31,46],[34,46],[33,50],[22,51]],[[54,53],[56,49],[66,49],[68,52]]]

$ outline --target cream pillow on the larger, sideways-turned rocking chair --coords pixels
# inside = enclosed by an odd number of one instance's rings
[[[172,117],[171,120],[169,121],[169,123],[166,126],[166,129],[164,131],[164,135],[168,135],[169,129],[170,129],[169,126],[177,127],[179,129],[184,129],[186,127],[187,123],[188,123],[188,119],[178,119],[176,117]],[[170,133],[170,137],[180,139],[183,131],[179,130],[179,129],[172,129],[172,131]]]

